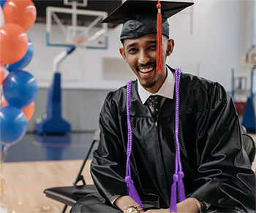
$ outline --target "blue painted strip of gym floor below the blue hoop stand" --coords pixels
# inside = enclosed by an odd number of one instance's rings
[[[50,136],[27,133],[9,148],[4,162],[83,159],[92,136],[93,131]]]

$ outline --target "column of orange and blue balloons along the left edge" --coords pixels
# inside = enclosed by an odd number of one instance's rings
[[[34,47],[26,31],[37,9],[31,0],[0,0],[0,152],[22,139],[34,113],[37,81],[23,71]],[[4,78],[4,68],[10,71]]]

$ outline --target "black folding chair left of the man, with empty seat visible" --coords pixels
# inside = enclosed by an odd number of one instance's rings
[[[80,171],[78,172],[78,176],[75,179],[75,182],[72,186],[66,187],[51,187],[44,190],[45,195],[48,198],[52,198],[53,200],[59,201],[62,204],[65,204],[62,212],[65,212],[67,206],[74,206],[75,203],[83,198],[84,195],[89,193],[94,193],[97,191],[94,185],[86,185],[85,179],[83,178],[82,171],[84,166],[86,165],[86,161],[93,150],[94,144],[99,142],[99,130],[95,131],[94,136],[91,141],[91,146],[89,151],[86,154],[86,158],[83,160],[82,166],[80,167]],[[82,182],[83,185],[78,185],[78,182]]]

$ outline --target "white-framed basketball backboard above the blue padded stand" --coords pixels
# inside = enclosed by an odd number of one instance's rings
[[[46,8],[46,44],[48,46],[78,46],[91,49],[107,49],[108,24],[101,23],[108,12],[77,9],[87,1],[64,0],[72,8]]]

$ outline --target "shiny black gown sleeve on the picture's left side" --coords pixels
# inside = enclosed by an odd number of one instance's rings
[[[91,162],[91,177],[99,194],[109,199],[113,195],[129,195],[124,182],[126,151],[122,146],[118,107],[108,93],[99,115],[101,130],[99,147]]]

